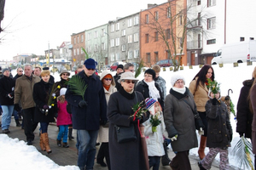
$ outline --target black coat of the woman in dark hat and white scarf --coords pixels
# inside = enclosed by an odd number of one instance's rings
[[[160,105],[161,105],[161,107],[162,107],[162,110],[164,111],[164,103],[165,103],[164,100],[165,100],[165,99],[164,99],[163,93],[162,93],[162,91],[160,90],[160,87],[159,87],[158,83],[154,82],[154,86],[155,86],[155,88],[157,88],[158,91],[159,91],[160,99],[158,99],[158,101],[159,101],[159,103],[160,103]],[[144,99],[150,98],[150,97],[149,97],[148,84],[147,84],[146,82],[144,82],[144,80],[143,80],[143,81],[140,81],[140,82],[137,82],[137,85],[136,85],[135,90],[136,90],[137,92],[142,93]]]

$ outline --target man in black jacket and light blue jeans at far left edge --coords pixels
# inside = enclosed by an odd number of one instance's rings
[[[9,124],[14,111],[15,80],[9,77],[9,69],[3,69],[3,78],[0,79],[0,104],[3,110],[2,130],[9,133]]]

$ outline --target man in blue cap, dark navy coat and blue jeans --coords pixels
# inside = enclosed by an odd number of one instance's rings
[[[67,87],[66,99],[71,105],[73,128],[77,129],[79,142],[78,166],[81,170],[93,169],[96,155],[96,139],[100,124],[107,122],[107,104],[102,82],[94,74],[96,62],[94,59],[84,61],[84,71],[79,72],[87,88],[82,96],[73,93]]]

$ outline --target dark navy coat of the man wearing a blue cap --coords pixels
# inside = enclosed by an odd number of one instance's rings
[[[93,74],[90,77],[85,76],[84,71],[78,75],[83,79],[87,88],[84,94],[84,100],[87,106],[79,107],[79,101],[82,96],[73,94],[67,86],[66,99],[68,105],[71,105],[73,128],[79,130],[98,130],[100,121],[107,122],[107,103],[102,82]]]

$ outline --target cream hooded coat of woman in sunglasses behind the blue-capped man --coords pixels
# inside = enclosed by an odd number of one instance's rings
[[[108,74],[111,75],[111,73],[109,71],[103,71],[100,79],[102,80],[102,78],[105,77]],[[107,107],[108,107],[108,101],[109,101],[110,95],[117,91],[117,89],[114,88],[114,87],[115,87],[115,82],[114,82],[114,79],[113,79],[113,76],[112,76],[112,82],[111,82],[110,88],[108,90],[106,88],[104,88],[105,97],[106,97],[106,101],[107,101]],[[108,142],[108,127],[100,126],[97,141],[100,142],[100,143]]]

